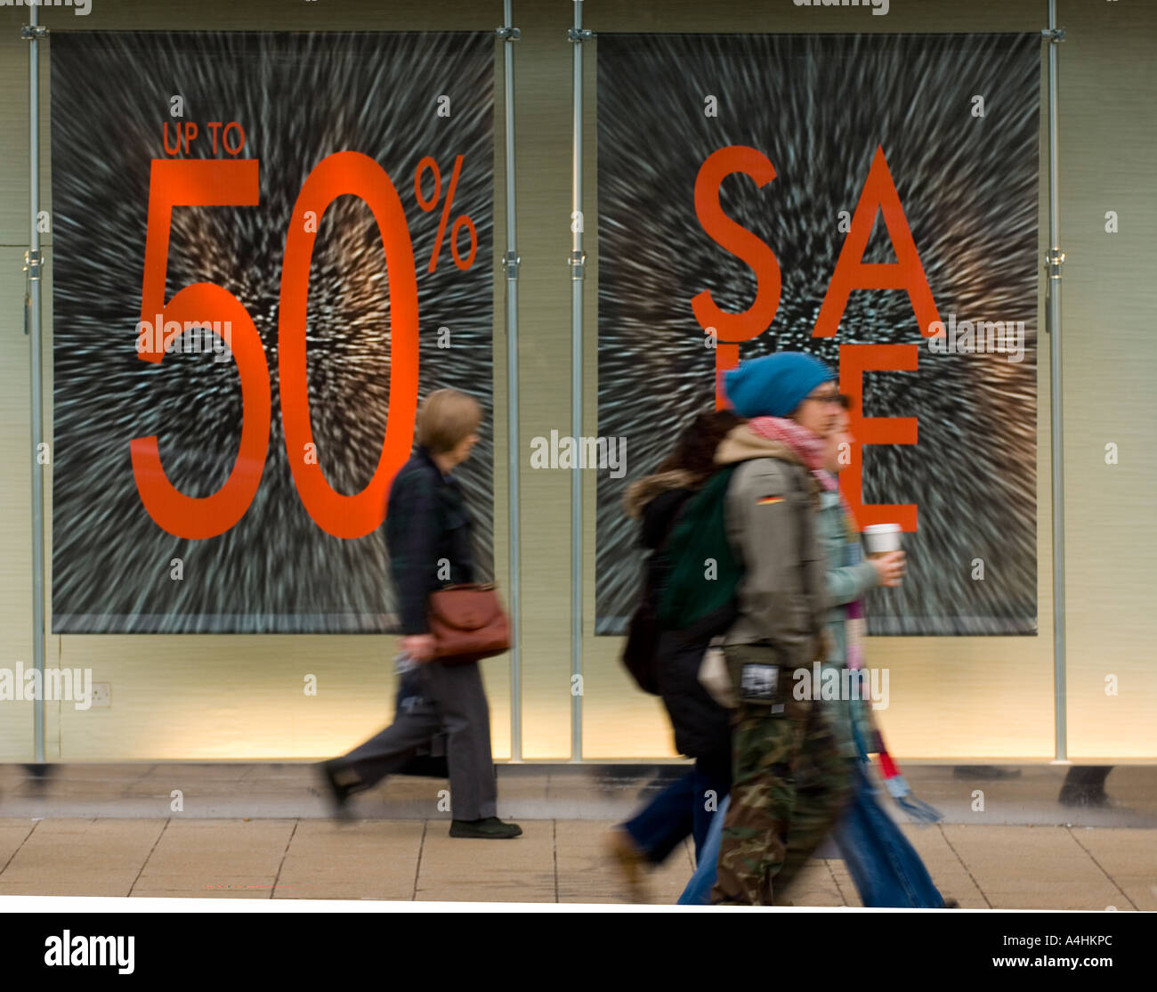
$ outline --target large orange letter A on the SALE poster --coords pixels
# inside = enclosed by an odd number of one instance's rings
[[[896,262],[863,260],[877,211],[884,214],[884,226],[896,252]],[[853,289],[907,289],[920,333],[926,338],[933,337],[934,332],[929,329],[939,319],[939,314],[880,146],[876,147],[876,157],[872,159],[860,203],[852,218],[852,230],[843,240],[824,306],[819,309],[816,328],[811,332],[813,338],[831,338],[835,335]]]

